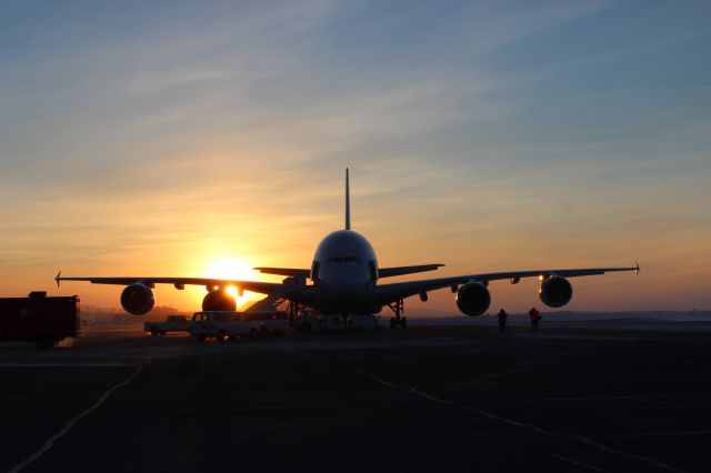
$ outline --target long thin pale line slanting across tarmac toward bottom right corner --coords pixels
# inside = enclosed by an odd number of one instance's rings
[[[680,470],[680,469],[678,469],[675,466],[668,465],[667,463],[659,462],[659,461],[657,461],[654,459],[650,459],[650,457],[647,457],[647,456],[638,455],[638,454],[634,454],[634,453],[623,452],[623,451],[615,450],[615,449],[612,449],[610,446],[603,445],[601,443],[597,443],[592,439],[587,437],[584,435],[571,435],[571,434],[563,434],[563,433],[557,433],[557,432],[547,431],[545,429],[539,427],[538,425],[527,424],[524,422],[519,422],[519,421],[514,421],[512,419],[502,417],[500,415],[492,414],[491,412],[488,412],[488,411],[484,411],[484,410],[481,410],[481,409],[471,407],[471,406],[465,405],[465,404],[460,404],[458,402],[448,401],[445,399],[437,397],[437,396],[433,396],[432,394],[425,393],[424,391],[417,390],[417,389],[414,389],[412,386],[405,386],[405,385],[402,385],[402,384],[394,384],[394,383],[385,381],[382,378],[377,376],[375,374],[372,374],[372,373],[368,373],[368,372],[364,372],[364,371],[361,371],[361,370],[354,370],[354,372],[356,372],[356,374],[365,375],[365,376],[370,378],[371,380],[374,380],[378,383],[380,383],[380,384],[382,384],[382,385],[384,385],[387,388],[401,389],[401,390],[410,391],[412,394],[419,395],[420,397],[424,397],[427,400],[430,400],[430,401],[439,403],[439,404],[444,404],[444,405],[449,405],[449,406],[452,406],[452,407],[461,409],[463,411],[473,412],[475,414],[480,414],[480,415],[483,415],[485,417],[492,419],[494,421],[499,421],[499,422],[502,422],[502,423],[505,423],[505,424],[509,424],[509,425],[513,425],[513,426],[517,426],[517,427],[529,429],[529,430],[532,430],[534,432],[540,433],[541,435],[558,436],[558,437],[565,437],[565,439],[577,440],[577,441],[582,442],[585,445],[589,445],[589,446],[591,446],[591,447],[593,447],[595,450],[600,450],[600,451],[605,452],[605,453],[612,453],[612,454],[619,455],[619,456],[625,456],[628,459],[639,460],[641,462],[649,463],[651,465],[654,465],[654,466],[660,467],[660,469],[665,470],[665,471],[677,472],[677,473],[685,473],[684,470]]]

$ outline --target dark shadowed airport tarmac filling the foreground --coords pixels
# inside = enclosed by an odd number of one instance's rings
[[[0,471],[709,471],[711,324],[545,322],[3,343]]]

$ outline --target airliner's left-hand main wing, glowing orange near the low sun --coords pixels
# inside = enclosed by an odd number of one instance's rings
[[[206,288],[214,286],[236,286],[242,291],[259,292],[261,294],[270,294],[281,290],[283,284],[280,282],[261,282],[261,281],[236,281],[213,278],[64,278],[61,271],[54,278],[57,285],[61,281],[88,281],[92,284],[117,284],[129,285],[140,282],[148,286],[156,284],[173,284],[176,289],[183,289],[186,285],[204,285]]]

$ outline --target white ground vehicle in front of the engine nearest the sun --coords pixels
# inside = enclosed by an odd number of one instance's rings
[[[242,312],[203,311],[196,312],[190,323],[190,333],[199,341],[217,339],[223,343],[238,336],[257,338],[257,322],[247,320]]]

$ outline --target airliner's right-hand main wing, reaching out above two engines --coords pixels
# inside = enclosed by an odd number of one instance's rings
[[[549,275],[559,275],[561,278],[578,278],[587,275],[604,274],[608,272],[617,271],[634,271],[639,273],[639,263],[630,268],[590,268],[590,269],[569,269],[569,270],[534,270],[534,271],[510,271],[501,273],[482,273],[482,274],[469,274],[451,278],[438,278],[421,281],[410,282],[397,282],[391,284],[379,284],[375,288],[375,294],[378,302],[381,304],[390,304],[404,298],[409,298],[415,294],[427,293],[442,288],[454,288],[468,282],[478,281],[487,283],[489,281],[497,281],[509,279],[512,282],[518,282],[522,278],[548,278]]]

